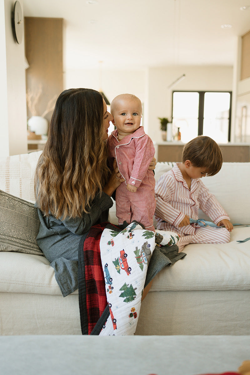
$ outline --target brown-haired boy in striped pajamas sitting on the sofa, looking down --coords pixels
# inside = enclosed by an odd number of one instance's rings
[[[209,193],[201,177],[213,176],[222,167],[222,153],[217,143],[208,136],[198,136],[188,142],[182,163],[163,174],[156,183],[157,229],[180,234],[179,252],[189,243],[226,243],[233,225],[215,196]],[[201,227],[190,224],[198,219],[198,210],[206,213],[218,226]]]

